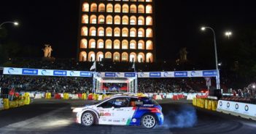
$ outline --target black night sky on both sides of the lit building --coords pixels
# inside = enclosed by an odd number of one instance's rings
[[[157,59],[177,59],[179,49],[187,47],[188,59],[206,57],[214,61],[213,35],[209,30],[201,32],[202,25],[214,28],[218,51],[222,51],[222,46],[236,47],[245,29],[255,29],[256,9],[252,2],[156,0],[155,3]],[[75,58],[78,17],[79,0],[2,0],[0,22],[20,22],[18,28],[4,26],[8,36],[2,41],[34,46],[37,51],[49,43],[53,46],[53,56]],[[233,36],[225,38],[225,30],[232,30]],[[43,53],[31,56],[40,57]]]

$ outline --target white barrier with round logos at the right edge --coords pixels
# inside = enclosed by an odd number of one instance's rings
[[[217,112],[256,120],[256,104],[219,100],[217,104]]]

